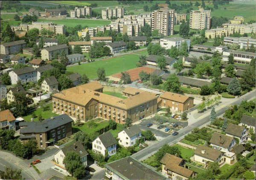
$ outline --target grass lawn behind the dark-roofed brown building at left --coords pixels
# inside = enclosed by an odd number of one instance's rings
[[[56,116],[58,114],[52,113],[52,102],[47,104],[48,109],[46,111],[43,111],[42,108],[36,109],[35,115],[37,116],[34,118],[34,121],[38,121],[38,115],[41,114],[44,119],[50,118],[52,116]],[[22,118],[25,119],[25,121],[30,121],[32,118],[32,112],[29,113],[29,115],[23,116]]]

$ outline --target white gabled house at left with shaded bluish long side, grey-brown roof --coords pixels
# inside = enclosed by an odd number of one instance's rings
[[[37,70],[31,66],[26,68],[14,69],[9,72],[12,84],[17,84],[20,80],[22,83],[37,82]]]

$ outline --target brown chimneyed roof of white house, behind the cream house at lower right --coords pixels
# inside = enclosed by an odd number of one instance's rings
[[[225,148],[228,148],[233,141],[233,137],[230,137],[228,135],[223,135],[217,132],[214,132],[212,134],[212,138],[209,141],[209,143],[215,144],[217,146],[223,146]]]

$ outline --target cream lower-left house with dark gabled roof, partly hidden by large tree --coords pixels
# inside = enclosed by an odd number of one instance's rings
[[[64,146],[59,149],[58,152],[56,152],[56,154],[54,155],[56,168],[60,167],[61,169],[64,169],[66,171],[63,160],[68,152],[76,152],[80,156],[80,161],[84,164],[84,166],[87,166],[88,152],[85,150],[84,146],[80,141],[74,141],[70,145]]]

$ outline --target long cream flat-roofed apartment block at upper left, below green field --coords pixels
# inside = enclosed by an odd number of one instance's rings
[[[39,32],[42,29],[52,31],[54,36],[57,34],[65,34],[65,25],[54,25],[50,22],[32,22],[32,24],[20,24],[20,26],[11,25],[12,31],[23,30],[29,31],[30,29],[37,28]]]

